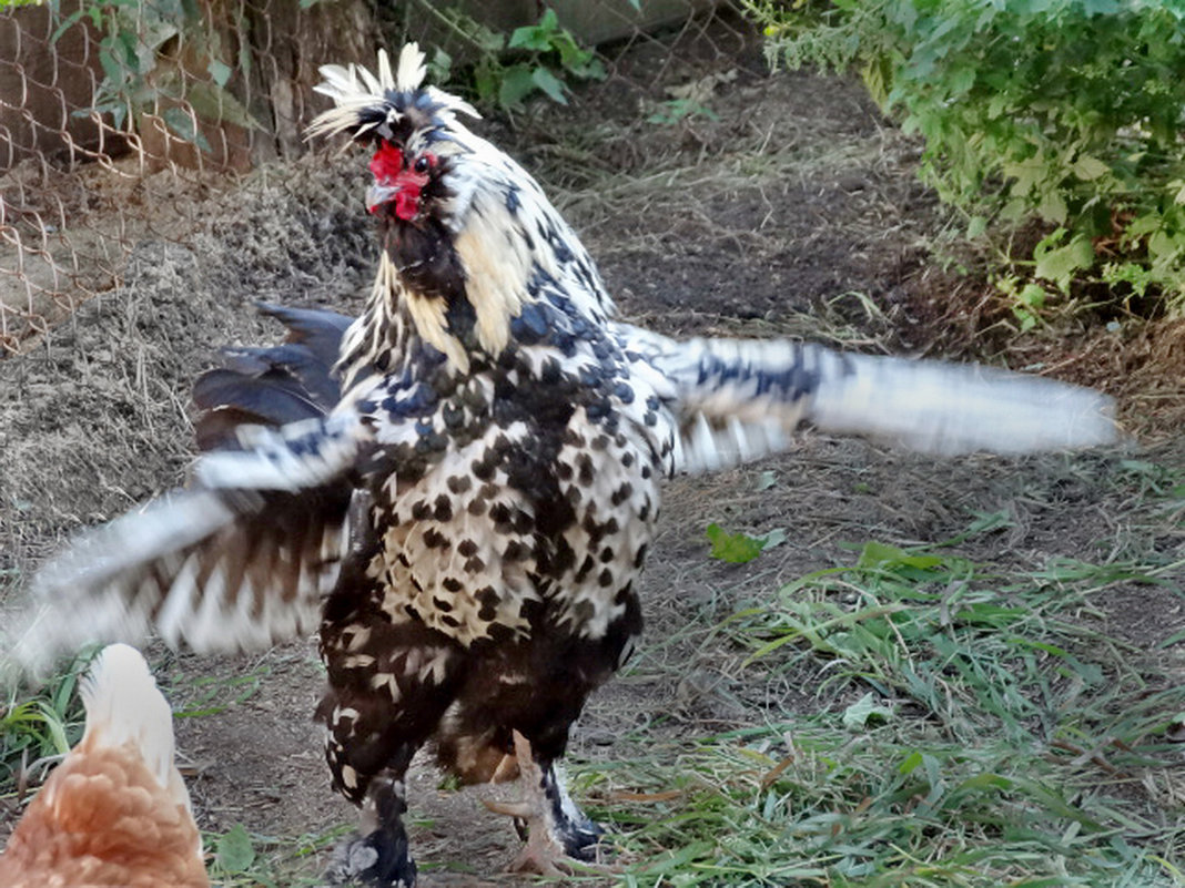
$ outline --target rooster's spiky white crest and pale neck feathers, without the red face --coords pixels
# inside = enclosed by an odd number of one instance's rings
[[[468,374],[474,361],[519,346],[563,347],[611,317],[575,232],[523,167],[457,120],[478,116],[467,102],[423,85],[424,56],[415,44],[404,46],[393,72],[380,51],[378,75],[337,65],[321,73],[318,91],[337,107],[313,122],[310,135],[385,140],[409,156],[430,152],[440,165],[421,218],[383,221],[370,303],[339,365],[347,388],[369,367],[389,373],[438,355]]]

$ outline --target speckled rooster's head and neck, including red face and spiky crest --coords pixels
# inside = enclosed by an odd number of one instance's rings
[[[316,89],[337,107],[313,121],[310,135],[348,133],[371,155],[366,208],[383,245],[376,317],[398,305],[425,342],[466,369],[479,353],[497,358],[524,336],[547,339],[552,322],[563,322],[557,313],[609,314],[576,234],[523,167],[459,120],[479,116],[467,102],[424,84],[416,44],[393,71],[380,51],[377,75],[353,65],[321,73]],[[384,335],[374,333],[378,349]]]

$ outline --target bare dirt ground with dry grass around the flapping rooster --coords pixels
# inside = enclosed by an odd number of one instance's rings
[[[641,587],[649,642],[591,701],[572,757],[611,760],[639,744],[754,723],[770,695],[782,712],[843,707],[816,696],[809,673],[752,687],[743,652],[712,632],[781,583],[845,558],[841,543],[944,540],[975,513],[1004,510],[1012,527],[976,538],[968,556],[1036,567],[1057,555],[1183,545],[1179,535],[1130,539],[1128,494],[1113,481],[1132,456],[1181,464],[1173,438],[1185,392],[1171,360],[1185,347],[1180,327],[1068,321],[1001,354],[989,330],[1006,313],[927,250],[947,220],[917,182],[917,143],[858,83],[771,76],[752,36],[728,22],[641,41],[619,73],[569,110],[536,109],[513,133],[485,129],[539,174],[624,316],[677,335],[806,335],[1048,369],[1115,393],[1142,443],[935,461],[806,435],[792,453],[673,481]],[[646,122],[665,88],[697,83],[713,117]],[[0,361],[0,597],[7,590],[14,600],[78,526],[182,478],[190,381],[217,346],[276,334],[256,320],[254,301],[357,308],[374,255],[357,161],[310,159],[233,193],[198,195],[192,230],[135,243],[120,288],[27,355]],[[749,565],[716,562],[704,536],[713,521],[734,532],[783,528],[788,542]],[[1106,604],[1108,628],[1147,650],[1185,626],[1171,587],[1119,585]],[[309,856],[295,867],[316,873],[326,835],[353,812],[328,790],[310,720],[324,681],[312,642],[251,657],[154,654],[174,706],[201,713],[179,720],[178,742],[203,829],[241,823],[286,842],[308,836]],[[515,883],[499,873],[517,839],[478,794],[415,771],[424,886]]]

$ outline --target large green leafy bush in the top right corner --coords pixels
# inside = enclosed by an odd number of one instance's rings
[[[1006,287],[1113,288],[1185,313],[1185,5],[1134,0],[747,0],[775,64],[859,70],[925,140],[923,178],[967,234],[1048,237]],[[1031,242],[1030,242],[1031,243]],[[1019,283],[1014,279],[1013,283]]]

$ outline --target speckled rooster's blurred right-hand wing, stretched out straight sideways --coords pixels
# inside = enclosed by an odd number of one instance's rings
[[[940,455],[1026,453],[1120,438],[1108,397],[1039,377],[784,340],[675,342],[636,328],[628,340],[677,390],[677,458],[685,471],[784,450],[802,423]]]

